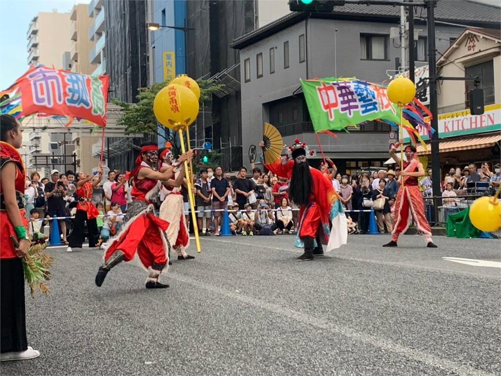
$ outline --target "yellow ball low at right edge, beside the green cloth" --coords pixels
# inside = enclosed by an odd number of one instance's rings
[[[501,203],[493,197],[480,197],[471,204],[469,217],[478,230],[497,231],[501,227]]]

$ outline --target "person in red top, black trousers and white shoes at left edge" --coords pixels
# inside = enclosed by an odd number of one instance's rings
[[[0,360],[36,358],[26,338],[25,276],[21,258],[30,247],[25,212],[26,170],[16,150],[23,143],[21,124],[0,115]],[[11,240],[14,237],[19,245]]]

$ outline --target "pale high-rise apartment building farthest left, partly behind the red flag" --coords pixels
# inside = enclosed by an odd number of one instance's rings
[[[41,12],[35,16],[28,26],[28,65],[43,64],[56,69],[64,69],[63,56],[71,51],[69,38],[71,20],[69,13],[58,13],[57,9],[51,12]],[[68,36],[68,38],[62,38]],[[58,41],[54,43],[54,41]],[[41,118],[32,116],[24,121],[24,124],[34,125],[45,123]],[[34,162],[35,155],[52,155],[49,149],[50,135],[47,132],[32,131],[27,133],[25,141],[28,141],[28,166]],[[40,158],[39,158],[40,159]]]

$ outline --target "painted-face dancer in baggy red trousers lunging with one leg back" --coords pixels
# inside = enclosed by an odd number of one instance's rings
[[[191,160],[193,152],[187,151],[178,159],[180,163]],[[169,223],[156,216],[153,202],[157,198],[161,182],[174,175],[178,165],[164,172],[155,169],[158,165],[158,146],[147,144],[141,147],[136,159],[136,168],[131,172],[134,179],[133,201],[129,205],[124,224],[116,238],[107,245],[104,264],[96,275],[96,285],[101,286],[106,274],[121,261],[130,261],[137,254],[141,264],[148,272],[146,288],[166,288],[167,284],[158,282],[158,277],[169,262],[170,245],[165,235]]]

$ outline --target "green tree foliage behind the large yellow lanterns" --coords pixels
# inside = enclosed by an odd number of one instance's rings
[[[200,87],[200,104],[212,100],[212,93],[224,88],[223,84],[216,84],[213,80],[197,80]],[[168,136],[158,132],[158,121],[153,112],[153,101],[157,93],[168,82],[156,83],[151,87],[140,88],[136,96],[137,103],[127,103],[112,99],[112,102],[122,108],[122,116],[118,119],[118,124],[125,126],[125,134],[148,133],[163,137],[170,141],[175,149],[179,148],[177,137],[172,132]],[[169,136],[170,134],[170,136]],[[177,151],[177,150],[176,150]]]

